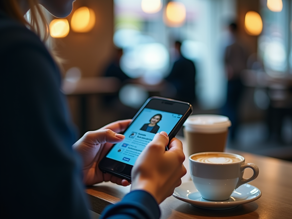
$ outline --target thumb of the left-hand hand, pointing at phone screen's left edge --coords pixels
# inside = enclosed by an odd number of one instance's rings
[[[86,133],[86,139],[95,145],[104,144],[106,142],[118,143],[124,140],[124,138],[125,135],[117,134],[110,129],[90,131]]]

